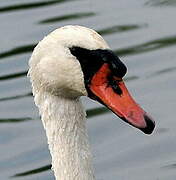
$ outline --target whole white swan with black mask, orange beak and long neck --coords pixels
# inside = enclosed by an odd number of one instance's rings
[[[132,126],[152,133],[154,121],[123,83],[126,66],[94,30],[56,29],[35,47],[29,66],[57,180],[95,179],[80,96],[99,101]]]

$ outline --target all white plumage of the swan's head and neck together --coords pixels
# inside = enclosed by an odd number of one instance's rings
[[[58,180],[93,180],[85,112],[79,101],[86,96],[84,76],[71,47],[108,49],[94,30],[65,26],[46,36],[29,61],[35,103],[46,130],[52,167]]]

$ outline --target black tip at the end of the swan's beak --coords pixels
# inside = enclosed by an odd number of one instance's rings
[[[141,128],[140,130],[145,134],[151,134],[155,128],[155,121],[153,121],[149,116],[144,115],[144,119],[146,122],[146,127]]]

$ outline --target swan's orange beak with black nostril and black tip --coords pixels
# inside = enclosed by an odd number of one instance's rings
[[[152,133],[155,122],[131,97],[122,78],[112,75],[107,63],[92,77],[89,89],[93,99],[100,101],[121,119],[146,134]]]

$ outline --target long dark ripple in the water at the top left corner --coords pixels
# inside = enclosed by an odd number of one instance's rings
[[[39,1],[39,2],[33,2],[33,3],[14,4],[10,6],[0,7],[0,13],[8,12],[8,11],[31,9],[31,8],[40,8],[42,6],[49,6],[49,5],[53,5],[57,3],[63,3],[66,1],[72,1],[72,0],[51,0],[51,1]]]

